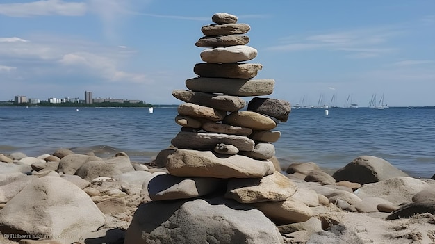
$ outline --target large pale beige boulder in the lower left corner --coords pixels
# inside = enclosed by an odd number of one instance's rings
[[[31,181],[0,210],[0,232],[45,238],[97,231],[106,218],[86,193],[60,177]]]

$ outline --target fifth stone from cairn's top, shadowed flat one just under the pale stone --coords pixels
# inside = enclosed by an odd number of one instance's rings
[[[197,63],[193,72],[201,77],[251,79],[261,69],[259,63]]]

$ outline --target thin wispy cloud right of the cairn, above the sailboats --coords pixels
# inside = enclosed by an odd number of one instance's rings
[[[345,51],[348,57],[372,58],[391,53],[395,49],[384,47],[391,38],[402,35],[395,27],[359,29],[315,35],[290,36],[281,39],[281,44],[269,47],[272,51],[329,50]]]

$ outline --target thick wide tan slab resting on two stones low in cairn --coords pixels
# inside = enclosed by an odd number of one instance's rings
[[[272,174],[271,161],[247,156],[213,154],[210,151],[177,149],[167,157],[166,168],[179,177],[256,178]]]

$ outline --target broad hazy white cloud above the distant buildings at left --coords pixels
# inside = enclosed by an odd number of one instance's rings
[[[0,38],[0,60],[6,60],[0,65],[0,71],[4,73],[17,67],[25,72],[38,67],[38,72],[44,74],[87,72],[102,81],[147,83],[149,79],[145,79],[145,74],[123,68],[124,62],[133,54],[135,50],[128,47],[104,47],[71,38]]]

